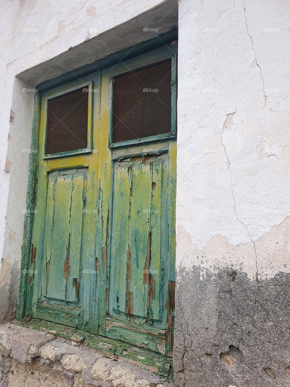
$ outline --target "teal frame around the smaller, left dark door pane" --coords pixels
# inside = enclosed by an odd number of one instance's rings
[[[70,82],[71,83],[71,82]],[[46,120],[46,129],[45,129],[45,143],[44,143],[44,149],[46,149],[46,140],[47,140],[47,125],[48,125],[48,101],[50,99],[59,97],[61,95],[68,94],[72,91],[83,88],[88,88],[89,93],[89,101],[88,101],[88,123],[87,123],[87,147],[83,149],[75,149],[73,151],[65,151],[65,152],[57,152],[57,153],[51,153],[51,154],[44,154],[42,156],[43,159],[51,159],[51,158],[58,158],[58,157],[66,157],[66,156],[73,156],[75,154],[81,154],[81,153],[90,153],[92,152],[92,106],[93,106],[93,81],[92,79],[88,79],[88,77],[84,77],[82,79],[79,79],[77,82],[72,82],[73,86],[69,86],[69,84],[64,84],[65,87],[61,91],[53,92],[50,94],[48,92],[47,96],[44,98],[44,115]],[[44,92],[44,94],[46,94]]]

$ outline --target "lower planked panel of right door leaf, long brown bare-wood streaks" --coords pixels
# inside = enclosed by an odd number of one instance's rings
[[[134,329],[135,335],[140,332],[142,336],[146,332],[148,336],[150,329],[160,336],[160,343],[165,341],[167,289],[164,283],[168,281],[169,265],[168,172],[168,154],[114,163],[111,318],[107,318],[107,336],[116,337],[119,330],[119,338],[126,336],[128,339],[128,329]],[[116,328],[117,321],[121,324],[119,329]]]

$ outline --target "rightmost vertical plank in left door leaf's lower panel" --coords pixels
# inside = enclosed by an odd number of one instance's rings
[[[84,180],[85,178],[85,180]],[[70,274],[67,280],[66,301],[77,302],[80,284],[80,259],[82,248],[83,200],[86,170],[72,176],[72,204],[70,210]]]

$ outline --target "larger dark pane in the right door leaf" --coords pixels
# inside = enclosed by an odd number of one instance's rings
[[[114,79],[113,142],[171,131],[171,60]]]

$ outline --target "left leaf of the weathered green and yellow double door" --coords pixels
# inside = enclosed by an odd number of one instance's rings
[[[100,72],[95,73],[94,80],[97,81],[99,75]],[[87,234],[83,229],[87,228],[85,211],[89,168],[92,168],[90,152],[94,80],[93,74],[77,79],[44,92],[41,99],[37,188],[34,197],[36,216],[32,228],[33,254],[30,262],[30,270],[34,272],[34,276],[27,289],[26,314],[73,327],[79,325],[81,298],[84,293],[80,268],[84,263],[87,246]],[[84,126],[87,125],[87,147],[70,151],[61,147],[57,149],[61,152],[47,154],[48,135],[53,135],[56,142],[58,137],[65,135],[66,142],[78,134],[78,122],[72,118],[64,122],[63,116],[58,119],[66,126],[65,133],[60,129],[53,131],[57,125],[48,128],[49,116],[54,115],[55,120],[57,118],[55,112],[49,110],[49,101],[63,96],[65,103],[66,97],[72,96],[75,91],[78,92],[79,99],[83,98],[87,104],[83,115]],[[74,114],[77,113],[76,106]],[[66,119],[71,113],[71,108],[67,109]],[[85,127],[83,130],[85,131]]]

